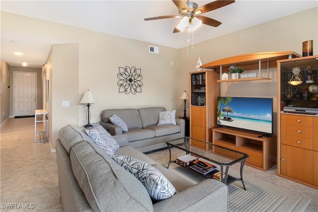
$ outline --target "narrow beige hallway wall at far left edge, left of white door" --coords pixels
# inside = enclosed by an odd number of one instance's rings
[[[6,88],[8,85],[10,85],[10,67],[9,65],[1,61],[0,62],[0,78],[2,80],[2,93],[0,94],[0,125],[9,117],[9,95],[10,90],[12,89],[12,86],[10,88]],[[11,77],[12,78],[12,77]]]

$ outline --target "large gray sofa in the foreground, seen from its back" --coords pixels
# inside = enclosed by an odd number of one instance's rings
[[[65,212],[227,211],[228,187],[206,179],[193,184],[146,154],[128,145],[127,137],[114,136],[120,148],[115,155],[129,155],[158,169],[177,193],[153,202],[144,185],[117,164],[82,131],[65,126],[56,143],[60,197]]]

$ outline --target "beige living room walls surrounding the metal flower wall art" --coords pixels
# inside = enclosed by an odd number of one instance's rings
[[[63,56],[67,56],[68,48],[75,50],[77,47],[54,45],[48,57],[49,67],[46,68],[46,71],[49,73],[48,77],[54,81],[50,83],[53,86],[50,89],[52,90],[50,99],[54,103],[48,105],[52,116],[53,136],[50,139],[54,140],[57,138],[56,130],[63,127],[65,123],[74,123],[78,126],[86,124],[86,106],[77,104],[86,89],[92,90],[98,101],[91,106],[91,123],[101,121],[101,111],[106,108],[160,105],[168,110],[177,109],[178,116],[182,116],[184,102],[179,97],[184,90],[189,91],[188,72],[195,71],[199,57],[204,64],[224,57],[253,52],[295,51],[301,54],[302,42],[306,40],[314,40],[314,54],[317,55],[317,14],[318,7],[195,44],[194,49],[188,48],[188,55],[187,48],[177,50],[2,11],[1,30],[78,44],[78,72],[70,69],[63,61]],[[149,53],[149,45],[159,46],[160,54]],[[66,55],[63,54],[63,51],[66,52]],[[76,57],[73,53],[71,57],[72,60],[76,60],[73,58]],[[69,62],[72,66],[72,62]],[[134,95],[118,92],[118,68],[125,66],[142,70],[141,93]],[[56,69],[56,67],[58,68]],[[55,71],[57,75],[55,75]],[[221,94],[274,96],[276,93],[275,70],[270,71],[272,80],[269,81],[222,83]],[[61,89],[59,87],[61,83],[66,83],[71,89],[68,91]],[[62,100],[70,101],[70,108],[62,108]],[[75,109],[75,113],[68,113],[73,109],[71,107],[77,108],[78,112]],[[189,105],[187,105],[187,110],[188,108]],[[61,120],[63,121],[61,122]],[[55,141],[50,142],[54,148]]]

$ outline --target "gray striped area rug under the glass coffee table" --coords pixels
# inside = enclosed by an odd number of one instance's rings
[[[193,183],[205,180],[203,176],[181,166],[170,170]],[[244,184],[246,191],[240,181],[228,185],[229,212],[303,212],[311,201],[292,194],[273,194],[246,181]]]

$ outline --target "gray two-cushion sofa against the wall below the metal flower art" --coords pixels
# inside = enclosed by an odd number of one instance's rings
[[[103,121],[100,123],[110,135],[127,136],[129,145],[147,152],[167,147],[165,141],[184,137],[184,120],[176,118],[176,125],[157,125],[159,111],[164,107],[147,107],[139,109],[106,109],[102,111]],[[128,132],[123,132],[119,126],[113,125],[109,117],[116,114],[128,126]]]

